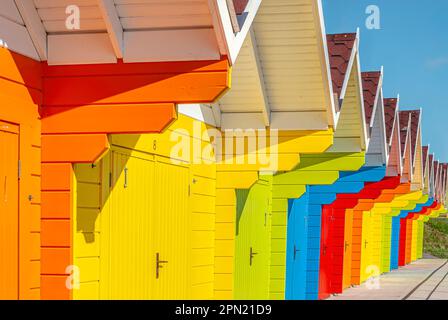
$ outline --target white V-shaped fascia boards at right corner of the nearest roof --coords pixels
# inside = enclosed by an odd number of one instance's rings
[[[224,39],[226,54],[233,65],[243,46],[244,40],[255,19],[262,0],[249,0],[244,13],[244,24],[238,33],[234,33],[232,18],[227,7],[226,0],[208,0],[210,11],[213,15],[213,25],[218,37]]]

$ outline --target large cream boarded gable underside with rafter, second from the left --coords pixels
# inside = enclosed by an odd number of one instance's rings
[[[213,108],[219,126],[333,127],[336,112],[324,32],[320,1],[279,6],[277,0],[263,0],[232,70],[233,89]]]

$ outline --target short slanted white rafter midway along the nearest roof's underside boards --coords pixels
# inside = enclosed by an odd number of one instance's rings
[[[124,51],[123,26],[118,17],[115,3],[113,0],[97,0],[97,2],[106,23],[107,33],[109,34],[115,55],[118,59],[122,59]]]

